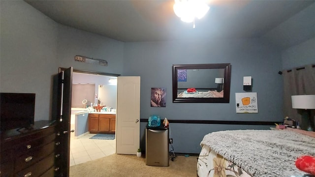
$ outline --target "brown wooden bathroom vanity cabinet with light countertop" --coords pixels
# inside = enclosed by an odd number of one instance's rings
[[[110,133],[116,131],[116,113],[93,112],[89,114],[90,133]]]

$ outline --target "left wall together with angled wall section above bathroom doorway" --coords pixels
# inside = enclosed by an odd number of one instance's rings
[[[35,93],[35,121],[52,117],[59,67],[123,72],[123,42],[57,24],[22,0],[0,3],[0,91]],[[108,66],[77,62],[75,55],[105,59]]]

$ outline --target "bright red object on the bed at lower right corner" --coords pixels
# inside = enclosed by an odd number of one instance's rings
[[[315,157],[313,156],[300,156],[295,161],[295,166],[299,170],[315,175]]]

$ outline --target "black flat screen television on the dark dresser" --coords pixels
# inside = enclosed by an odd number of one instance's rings
[[[1,132],[34,124],[35,93],[0,93]]]

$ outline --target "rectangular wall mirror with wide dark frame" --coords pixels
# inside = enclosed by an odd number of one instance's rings
[[[173,103],[229,103],[231,65],[173,64]]]

